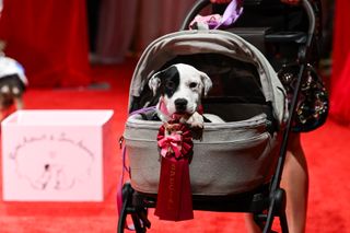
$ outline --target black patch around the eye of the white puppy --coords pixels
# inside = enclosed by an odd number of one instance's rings
[[[179,86],[179,73],[175,66],[172,66],[164,71],[160,72],[161,79],[160,92],[161,95],[172,97]]]

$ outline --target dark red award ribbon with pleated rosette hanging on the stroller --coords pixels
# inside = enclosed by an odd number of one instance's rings
[[[189,128],[171,120],[159,130],[161,176],[155,215],[162,220],[182,221],[194,218],[189,179],[192,136]]]

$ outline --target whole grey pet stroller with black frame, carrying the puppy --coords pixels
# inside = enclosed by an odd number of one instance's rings
[[[259,3],[256,0],[245,2]],[[158,101],[152,97],[148,80],[178,62],[191,65],[211,78],[213,89],[202,100],[203,113],[214,114],[225,121],[205,124],[202,140],[194,141],[189,164],[194,210],[249,212],[264,232],[271,231],[273,219],[278,217],[282,232],[288,232],[285,194],[280,188],[280,179],[307,65],[299,66],[294,95],[288,107],[287,93],[277,72],[258,45],[255,47],[243,38],[246,35],[247,39],[252,38],[250,31],[243,30],[240,34],[238,31],[185,30],[208,4],[209,0],[198,1],[187,15],[183,31],[151,43],[133,72],[130,117],[124,133],[129,167],[124,166],[130,182],[124,184],[119,198],[122,202],[118,232],[126,229],[127,215],[131,217],[137,232],[145,232],[151,226],[148,209],[154,208],[158,201],[161,165],[156,135],[162,123],[144,117]],[[298,57],[305,61],[312,47],[315,12],[308,1],[304,0],[302,5],[308,16],[308,31],[269,33],[264,39],[273,44],[298,44],[302,47]]]

